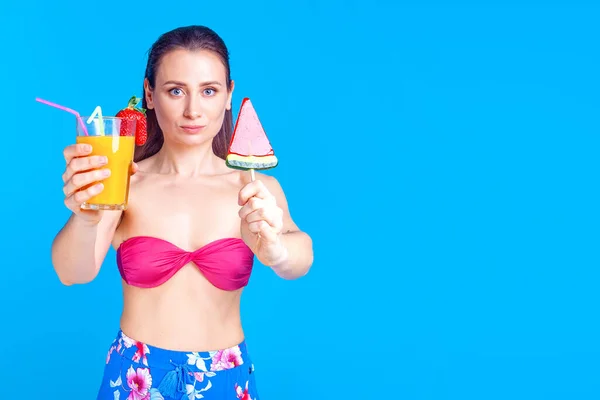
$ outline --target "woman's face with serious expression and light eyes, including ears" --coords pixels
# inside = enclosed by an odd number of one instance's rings
[[[165,54],[153,89],[144,82],[146,101],[154,109],[165,141],[200,144],[221,129],[231,109],[225,66],[208,50],[173,50]]]

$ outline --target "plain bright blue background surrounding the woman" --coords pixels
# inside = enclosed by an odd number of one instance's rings
[[[2,2],[2,397],[94,398],[121,307],[113,250],[88,285],[54,274],[74,125],[34,98],[114,114],[161,33],[206,24],[314,239],[307,277],[257,265],[243,296],[263,400],[600,398],[599,18],[573,1]]]

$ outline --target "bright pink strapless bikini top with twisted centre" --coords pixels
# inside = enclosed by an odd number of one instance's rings
[[[121,277],[141,288],[162,285],[189,262],[215,287],[236,290],[248,284],[254,253],[238,238],[218,239],[189,252],[164,239],[134,236],[117,249]]]

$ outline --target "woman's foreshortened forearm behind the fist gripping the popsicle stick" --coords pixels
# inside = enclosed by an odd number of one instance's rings
[[[313,263],[312,239],[304,232],[284,233],[282,259],[270,267],[284,279],[297,279],[308,273]]]

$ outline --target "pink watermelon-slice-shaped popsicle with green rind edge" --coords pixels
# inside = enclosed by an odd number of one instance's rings
[[[241,170],[277,166],[277,157],[249,98],[242,100],[225,163]]]

